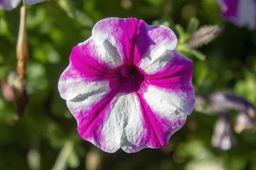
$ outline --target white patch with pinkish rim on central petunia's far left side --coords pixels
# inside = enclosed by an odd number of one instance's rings
[[[71,64],[61,75],[58,89],[63,99],[72,100],[73,102],[84,101],[84,105],[92,104],[111,91],[108,80],[96,81],[84,77]]]

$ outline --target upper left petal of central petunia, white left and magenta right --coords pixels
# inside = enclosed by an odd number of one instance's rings
[[[96,42],[99,57],[111,68],[133,60],[137,23],[135,18],[107,18],[93,27],[92,37]]]

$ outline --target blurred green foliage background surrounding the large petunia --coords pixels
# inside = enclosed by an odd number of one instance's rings
[[[2,81],[17,64],[19,9],[0,10]],[[69,63],[72,48],[87,40],[93,25],[106,17],[137,17],[176,33],[187,28],[191,17],[198,18],[200,27],[224,24],[219,37],[198,48],[206,55],[205,61],[184,52],[194,61],[195,93],[233,91],[256,105],[256,31],[224,21],[215,0],[57,0],[31,5],[27,10],[29,106],[15,121],[14,103],[0,94],[0,170],[50,170],[67,142],[72,144],[63,159],[67,169],[85,169],[89,164],[85,158],[96,150],[102,169],[256,170],[256,128],[236,135],[237,146],[221,151],[211,146],[218,117],[202,113],[188,116],[184,127],[162,149],[109,154],[81,139],[76,120],[59,96],[58,78]],[[180,30],[175,29],[176,24]]]

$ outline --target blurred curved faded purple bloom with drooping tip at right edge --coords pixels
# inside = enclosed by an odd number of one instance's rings
[[[241,133],[243,130],[253,127],[256,120],[255,107],[244,97],[227,92],[217,92],[209,95],[207,98],[196,96],[196,111],[223,115],[229,114],[231,109],[241,111],[236,117],[234,126],[236,133]]]

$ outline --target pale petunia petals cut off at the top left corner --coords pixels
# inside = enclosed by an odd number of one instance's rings
[[[0,8],[4,8],[6,10],[12,10],[16,8],[22,0],[0,0]],[[25,0],[26,3],[35,4],[41,3],[46,0]]]

